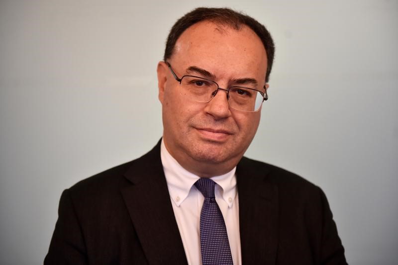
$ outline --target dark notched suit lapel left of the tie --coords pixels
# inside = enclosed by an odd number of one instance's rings
[[[160,141],[134,162],[121,189],[149,264],[187,264],[160,159]]]

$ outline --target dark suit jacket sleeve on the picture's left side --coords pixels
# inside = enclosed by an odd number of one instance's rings
[[[86,265],[86,247],[68,189],[61,195],[58,220],[44,265]]]

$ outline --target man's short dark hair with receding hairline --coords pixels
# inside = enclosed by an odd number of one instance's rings
[[[171,28],[169,36],[167,37],[163,60],[166,61],[173,55],[177,39],[187,28],[204,20],[208,20],[216,24],[227,25],[236,30],[240,30],[244,25],[251,28],[257,36],[260,37],[267,53],[268,64],[265,81],[268,82],[275,54],[275,45],[270,32],[256,19],[230,8],[199,7],[178,19]]]

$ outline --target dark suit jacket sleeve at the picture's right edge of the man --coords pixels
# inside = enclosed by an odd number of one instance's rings
[[[320,246],[320,264],[346,265],[344,248],[333,221],[333,215],[326,199],[325,193],[319,188],[322,205],[322,235]]]

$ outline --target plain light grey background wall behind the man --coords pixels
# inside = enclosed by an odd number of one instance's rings
[[[156,64],[197,2],[0,1],[0,264],[41,264],[62,190],[155,145]],[[397,264],[398,2],[200,5],[243,10],[275,39],[246,155],[323,188],[350,264]]]

